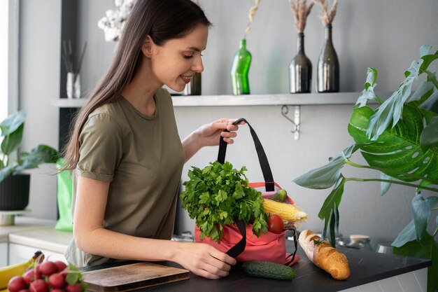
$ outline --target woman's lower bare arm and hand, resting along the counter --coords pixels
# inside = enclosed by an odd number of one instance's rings
[[[171,260],[209,279],[227,276],[236,263],[208,244],[134,237],[103,228],[108,188],[108,182],[78,179],[73,237],[79,249],[124,260]]]

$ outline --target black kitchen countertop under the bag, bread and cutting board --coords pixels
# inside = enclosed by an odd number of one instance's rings
[[[288,241],[288,250],[291,250]],[[293,265],[297,277],[293,281],[248,277],[240,265],[232,268],[228,277],[220,280],[209,280],[190,273],[190,279],[162,286],[145,288],[144,291],[190,291],[190,292],[230,292],[250,291],[425,291],[427,283],[427,267],[432,265],[430,260],[394,256],[390,254],[361,251],[357,249],[339,248],[346,254],[351,269],[351,276],[344,281],[332,279],[330,274],[313,265],[299,247],[300,260]],[[160,263],[178,267],[175,263]],[[120,265],[100,265],[85,267],[82,271],[97,270],[104,267]],[[360,290],[358,290],[360,286]]]

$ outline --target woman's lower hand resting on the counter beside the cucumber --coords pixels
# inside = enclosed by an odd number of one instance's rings
[[[227,277],[236,260],[213,246],[195,242],[179,242],[175,262],[207,279]]]

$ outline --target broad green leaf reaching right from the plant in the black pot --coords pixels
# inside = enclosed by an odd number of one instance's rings
[[[33,148],[30,153],[21,153],[19,165],[15,167],[14,173],[16,174],[22,169],[38,167],[41,163],[56,163],[58,158],[58,151],[50,146],[40,144]]]

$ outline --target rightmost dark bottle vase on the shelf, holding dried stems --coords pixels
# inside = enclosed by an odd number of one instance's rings
[[[339,61],[332,43],[332,25],[325,27],[325,44],[318,59],[318,92],[339,92]]]

